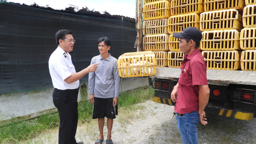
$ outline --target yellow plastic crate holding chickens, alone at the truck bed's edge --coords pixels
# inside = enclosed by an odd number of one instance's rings
[[[118,58],[120,77],[153,76],[156,72],[156,61],[153,52],[124,53]]]

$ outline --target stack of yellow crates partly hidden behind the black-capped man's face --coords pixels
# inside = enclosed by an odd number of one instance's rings
[[[168,18],[169,52],[168,66],[180,67],[184,54],[179,47],[179,39],[172,33],[181,32],[186,27],[199,29],[200,14],[203,10],[203,0],[172,0],[171,17]]]

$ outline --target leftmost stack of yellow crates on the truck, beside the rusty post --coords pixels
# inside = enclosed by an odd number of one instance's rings
[[[171,13],[171,0],[144,0],[143,47],[152,51],[158,67],[166,67],[169,50],[167,21]]]

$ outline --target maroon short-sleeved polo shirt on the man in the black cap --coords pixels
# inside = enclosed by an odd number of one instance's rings
[[[206,77],[206,62],[198,49],[190,55],[184,55],[181,63],[181,74],[178,80],[178,93],[174,111],[186,114],[198,111],[198,85],[208,85]]]

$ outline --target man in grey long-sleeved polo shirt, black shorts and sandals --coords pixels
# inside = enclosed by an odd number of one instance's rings
[[[108,135],[106,144],[113,144],[111,130],[113,119],[117,115],[117,98],[120,90],[120,76],[117,69],[117,59],[108,53],[111,41],[107,37],[98,39],[100,55],[91,59],[91,64],[99,64],[98,70],[89,73],[90,102],[93,104],[93,119],[98,118],[99,138],[95,144],[101,144],[104,135],[103,128],[107,117]]]

